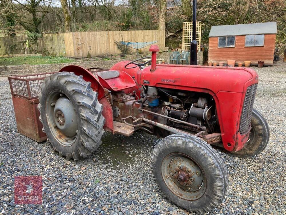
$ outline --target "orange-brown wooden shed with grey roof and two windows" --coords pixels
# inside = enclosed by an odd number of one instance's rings
[[[212,26],[209,34],[208,60],[235,64],[264,61],[273,65],[277,22]]]

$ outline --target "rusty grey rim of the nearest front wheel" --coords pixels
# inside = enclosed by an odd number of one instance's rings
[[[167,155],[162,161],[162,177],[168,189],[179,198],[197,200],[206,191],[206,177],[202,168],[182,153]]]

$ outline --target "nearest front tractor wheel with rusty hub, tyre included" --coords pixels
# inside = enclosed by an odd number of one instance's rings
[[[162,139],[151,157],[152,172],[170,202],[189,212],[216,208],[227,192],[227,171],[217,152],[186,134]]]

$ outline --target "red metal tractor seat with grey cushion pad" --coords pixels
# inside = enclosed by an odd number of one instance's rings
[[[97,72],[99,82],[102,87],[112,91],[122,91],[135,87],[134,79],[124,71],[108,70]]]

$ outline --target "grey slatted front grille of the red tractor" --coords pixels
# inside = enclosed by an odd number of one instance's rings
[[[256,89],[257,89],[257,84],[251,85],[247,88],[243,104],[243,110],[241,114],[240,128],[239,128],[239,132],[241,134],[246,132],[250,126]]]

